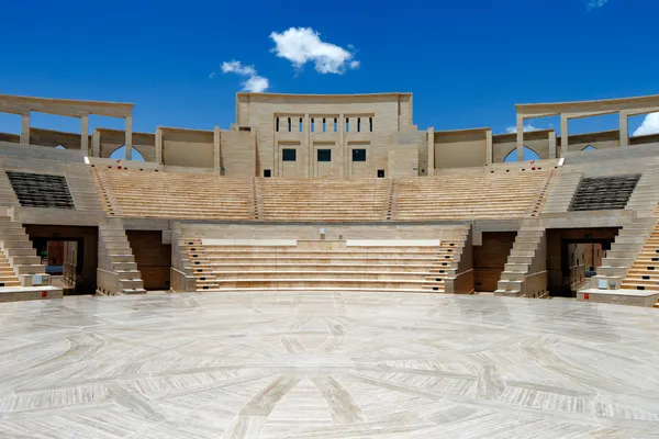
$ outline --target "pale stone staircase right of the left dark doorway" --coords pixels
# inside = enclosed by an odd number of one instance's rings
[[[99,225],[98,293],[144,294],[142,277],[121,219]]]

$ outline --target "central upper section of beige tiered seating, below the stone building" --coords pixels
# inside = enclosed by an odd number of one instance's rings
[[[260,219],[382,221],[391,180],[267,179],[259,189]]]

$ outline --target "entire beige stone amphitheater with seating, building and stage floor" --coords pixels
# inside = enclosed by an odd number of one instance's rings
[[[501,135],[411,93],[235,109],[0,95],[0,438],[659,438],[659,95]]]

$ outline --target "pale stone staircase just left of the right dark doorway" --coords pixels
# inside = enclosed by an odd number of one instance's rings
[[[515,237],[507,262],[501,273],[495,295],[537,296],[528,288],[528,278],[536,273],[546,273],[545,227],[538,219],[524,219]],[[538,270],[545,264],[543,270]],[[545,289],[546,290],[546,282]]]

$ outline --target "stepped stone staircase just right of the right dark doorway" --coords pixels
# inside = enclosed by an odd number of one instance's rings
[[[657,225],[657,218],[636,217],[623,226],[602,260],[597,275],[591,278],[591,288],[599,288],[605,281],[608,290],[617,290],[638,254]]]

